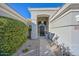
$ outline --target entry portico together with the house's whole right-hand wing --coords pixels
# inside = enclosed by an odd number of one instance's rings
[[[38,39],[46,32],[59,36],[58,43],[79,55],[79,4],[65,4],[62,8],[29,8],[32,19],[31,38]]]

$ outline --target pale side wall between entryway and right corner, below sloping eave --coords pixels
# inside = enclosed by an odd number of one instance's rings
[[[65,46],[71,46],[71,29],[72,27],[60,27],[71,25],[72,13],[69,13],[62,18],[58,18],[55,21],[50,23],[49,30],[52,33],[56,33],[59,36],[59,44],[64,43]],[[58,28],[56,28],[58,27]]]

